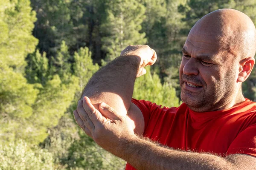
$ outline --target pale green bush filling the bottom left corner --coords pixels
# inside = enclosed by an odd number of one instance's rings
[[[52,154],[19,140],[8,146],[0,144],[0,170],[54,170]]]

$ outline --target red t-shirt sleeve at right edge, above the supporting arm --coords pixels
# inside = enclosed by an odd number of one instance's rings
[[[250,125],[230,144],[227,154],[243,153],[256,156],[256,124]]]

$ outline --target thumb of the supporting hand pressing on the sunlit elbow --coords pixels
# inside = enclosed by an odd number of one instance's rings
[[[111,108],[104,102],[99,104],[99,110],[102,113],[102,115],[104,115],[108,119],[111,119],[113,122],[121,119],[121,115],[115,109]]]

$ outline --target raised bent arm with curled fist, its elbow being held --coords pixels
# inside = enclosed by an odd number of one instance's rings
[[[121,56],[102,67],[89,80],[82,97],[88,96],[94,107],[105,102],[111,105],[134,126],[136,133],[143,133],[144,118],[140,109],[131,103],[136,77],[145,74],[145,66],[153,65],[157,55],[148,45],[129,45]],[[80,115],[81,116],[81,115]],[[90,134],[90,133],[89,133]]]

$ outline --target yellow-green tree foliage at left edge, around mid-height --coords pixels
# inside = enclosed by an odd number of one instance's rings
[[[13,68],[2,62],[0,68],[0,113],[12,118],[30,116],[38,90],[34,89],[34,85],[27,84],[25,77],[21,73],[15,73]]]

